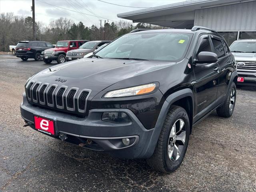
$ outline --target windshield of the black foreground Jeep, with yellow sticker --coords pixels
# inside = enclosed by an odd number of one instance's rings
[[[97,52],[100,58],[176,61],[184,58],[192,34],[126,34]]]

